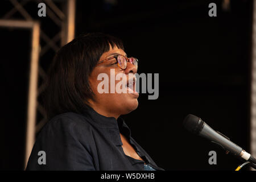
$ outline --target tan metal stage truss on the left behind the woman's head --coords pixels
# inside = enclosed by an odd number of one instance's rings
[[[32,49],[30,62],[30,78],[28,88],[28,106],[27,106],[27,131],[26,131],[26,151],[24,156],[24,167],[30,156],[32,147],[35,142],[36,133],[47,122],[46,110],[38,101],[38,96],[42,94],[46,88],[47,74],[40,66],[40,57],[47,53],[50,49],[57,52],[61,46],[70,42],[75,36],[75,9],[76,0],[58,1],[64,3],[65,10],[60,10],[52,0],[9,0],[13,4],[13,9],[8,11],[1,19],[0,26],[12,28],[30,28],[32,30]],[[60,27],[60,31],[49,38],[49,36],[40,27],[40,21],[36,21],[24,8],[28,2],[46,3],[46,13],[51,20]],[[13,15],[19,12],[23,16],[23,20],[13,19]],[[46,42],[44,47],[40,47],[40,40]],[[57,42],[61,42],[57,45]],[[39,78],[42,78],[42,84],[38,84]],[[43,119],[36,121],[37,113],[43,115]]]

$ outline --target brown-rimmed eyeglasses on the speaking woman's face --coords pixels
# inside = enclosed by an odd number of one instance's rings
[[[108,60],[113,59],[113,58],[115,58],[115,61],[116,61],[115,63],[117,63],[118,67],[121,68],[121,69],[126,69],[127,68],[127,62],[133,64],[136,69],[138,68],[138,59],[136,59],[135,57],[126,57],[126,56],[123,56],[123,55],[116,55],[116,56],[113,56],[113,57],[109,57],[108,59],[102,60],[97,64],[100,64],[104,61],[108,61]]]

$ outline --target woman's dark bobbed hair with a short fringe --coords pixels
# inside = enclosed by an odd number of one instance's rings
[[[82,34],[61,47],[48,69],[48,81],[43,93],[47,118],[66,112],[83,113],[88,99],[93,99],[89,76],[109,44],[124,50],[114,36],[102,33]]]

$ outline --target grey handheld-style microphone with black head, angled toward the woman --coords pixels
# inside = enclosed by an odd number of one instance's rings
[[[242,159],[256,164],[256,159],[252,155],[247,153],[245,150],[242,150],[242,148],[237,144],[231,142],[230,139],[225,135],[218,131],[214,131],[201,118],[188,114],[183,121],[183,126],[193,134],[207,138],[213,143],[218,144],[227,151],[227,154],[230,152],[235,156],[240,156]]]

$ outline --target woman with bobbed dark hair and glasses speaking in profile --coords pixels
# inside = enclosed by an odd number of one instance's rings
[[[50,121],[38,134],[27,170],[163,170],[119,117],[138,106],[137,68],[138,60],[127,58],[113,36],[86,34],[63,46],[49,69],[44,101]],[[114,84],[126,81],[120,88],[129,92],[99,92],[109,91],[111,81],[101,88],[98,76],[113,73],[123,75]]]

